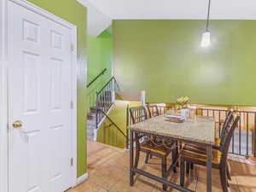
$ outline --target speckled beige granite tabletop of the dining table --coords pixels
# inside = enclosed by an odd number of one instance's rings
[[[172,123],[161,115],[130,125],[128,129],[213,145],[215,120],[213,117],[195,116],[194,119],[186,119],[183,123]]]

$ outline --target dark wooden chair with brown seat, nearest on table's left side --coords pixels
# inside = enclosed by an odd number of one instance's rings
[[[137,108],[130,108],[131,123],[137,124],[143,120],[148,119],[148,113],[146,108],[143,106]],[[142,140],[142,142],[140,142]],[[166,159],[169,154],[172,153],[172,163],[175,163],[177,160],[177,146],[176,142],[171,140],[163,141],[158,137],[152,137],[143,134],[137,134],[135,132],[135,143],[136,143],[136,155],[134,166],[137,168],[140,152],[146,153],[145,163],[148,163],[148,157],[150,155],[159,157],[161,159],[161,172],[162,177],[167,178],[167,163]],[[176,167],[174,167],[174,172],[176,172]],[[166,184],[163,184],[163,189],[166,190]]]

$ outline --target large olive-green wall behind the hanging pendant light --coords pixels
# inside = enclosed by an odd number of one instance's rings
[[[113,73],[123,90],[146,90],[147,102],[256,105],[256,21],[114,20]]]

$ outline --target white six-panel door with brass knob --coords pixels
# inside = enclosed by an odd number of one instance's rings
[[[71,30],[11,1],[8,13],[9,192],[62,192],[72,185]]]

